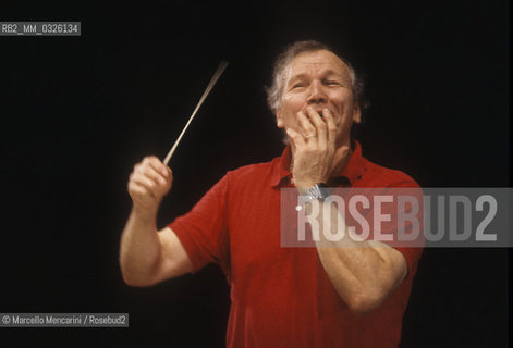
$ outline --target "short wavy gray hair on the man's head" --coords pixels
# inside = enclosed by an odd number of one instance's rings
[[[316,40],[306,40],[296,41],[289,45],[285,50],[280,53],[280,55],[278,55],[274,62],[274,67],[272,71],[272,85],[266,88],[267,103],[273,113],[276,113],[278,109],[280,109],[281,96],[283,92],[284,74],[294,58],[300,53],[320,50],[329,51],[339,57],[344,62],[349,70],[354,99],[359,103],[362,111],[367,107],[367,103],[364,101],[364,80],[358,76],[351,63],[344,58],[333,52],[333,50],[330,49],[328,46],[320,44]]]

